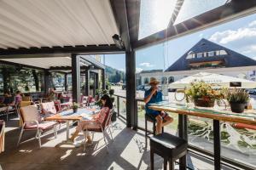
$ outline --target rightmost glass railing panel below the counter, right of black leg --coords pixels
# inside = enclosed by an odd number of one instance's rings
[[[256,168],[256,129],[242,123],[221,122],[221,156]]]

